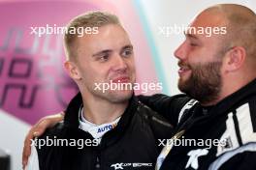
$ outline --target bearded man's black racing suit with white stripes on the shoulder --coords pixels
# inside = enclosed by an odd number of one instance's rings
[[[161,170],[256,170],[256,79],[209,107],[186,95],[140,100],[183,133]]]

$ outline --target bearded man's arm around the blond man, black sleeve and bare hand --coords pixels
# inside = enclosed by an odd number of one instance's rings
[[[139,96],[138,97],[145,105],[152,110],[158,112],[165,117],[174,127],[177,123],[178,113],[182,106],[189,100],[185,95],[177,95],[169,97],[166,95],[153,95],[150,97]],[[31,139],[41,136],[47,128],[55,126],[57,123],[63,121],[64,112],[54,114],[42,118],[35,126],[33,126],[26,135],[22,153],[22,165],[25,167],[28,161],[28,157],[31,154]]]

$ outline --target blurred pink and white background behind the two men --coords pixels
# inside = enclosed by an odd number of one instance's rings
[[[65,26],[87,11],[117,14],[135,47],[137,82],[162,83],[162,92],[147,95],[176,95],[173,53],[184,36],[178,30],[167,34],[167,29],[187,26],[217,3],[256,11],[255,0],[0,0],[0,157],[10,156],[11,169],[21,169],[27,130],[41,117],[63,110],[78,91],[63,69],[62,35],[39,37],[31,34],[31,27]]]

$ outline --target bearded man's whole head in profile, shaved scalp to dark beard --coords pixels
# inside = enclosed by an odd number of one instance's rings
[[[209,37],[206,32],[185,33],[185,41],[175,52],[181,92],[204,105],[212,105],[256,78],[253,11],[241,5],[219,4],[198,14],[189,26],[213,31],[224,27],[226,31]]]

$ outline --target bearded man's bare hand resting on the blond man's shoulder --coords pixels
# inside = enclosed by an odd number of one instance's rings
[[[30,130],[28,131],[24,146],[23,146],[23,153],[22,153],[22,167],[23,169],[27,165],[28,157],[31,154],[31,140],[34,137],[41,136],[47,128],[51,128],[55,126],[57,123],[63,121],[64,119],[64,112],[60,112],[58,114],[50,115],[47,117],[42,118],[36,125],[34,125]]]

